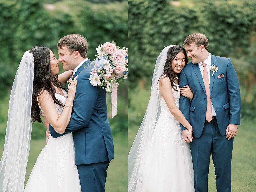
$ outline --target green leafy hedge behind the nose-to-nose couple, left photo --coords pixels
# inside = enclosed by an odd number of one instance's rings
[[[120,47],[128,47],[127,1],[92,2],[0,0],[0,137],[5,135],[8,97],[16,71],[23,54],[31,47],[47,46],[58,58],[58,41],[72,33],[86,37],[91,60],[95,59],[98,45],[105,42],[114,40]],[[127,84],[121,84],[119,108],[127,108]],[[118,116],[110,119],[113,133],[127,134],[127,121],[127,110],[119,110]],[[44,125],[35,123],[32,138],[44,137]]]

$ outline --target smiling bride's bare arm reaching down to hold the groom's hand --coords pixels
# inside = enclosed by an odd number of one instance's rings
[[[190,143],[193,140],[193,136],[192,136],[193,128],[189,124],[189,122],[186,120],[186,118],[184,117],[184,115],[182,114],[182,112],[179,110],[179,108],[175,103],[175,99],[173,97],[172,85],[168,77],[164,77],[159,81],[159,89],[169,108],[169,111],[172,113],[175,119],[177,119],[178,122],[180,122],[184,127],[186,127],[187,130],[184,130],[182,133],[183,133],[184,141],[187,143]]]

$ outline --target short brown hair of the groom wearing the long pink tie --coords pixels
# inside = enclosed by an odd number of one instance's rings
[[[189,35],[185,39],[184,45],[190,45],[191,43],[197,45],[198,47],[203,45],[205,47],[205,49],[208,51],[209,41],[208,41],[207,37],[204,34],[193,33],[193,34]]]

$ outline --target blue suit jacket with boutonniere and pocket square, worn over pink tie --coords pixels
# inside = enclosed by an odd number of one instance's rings
[[[211,55],[211,66],[218,71],[210,76],[210,97],[216,111],[220,134],[226,134],[228,124],[240,125],[241,96],[236,71],[229,58]],[[218,77],[224,74],[224,77]],[[206,118],[207,97],[204,80],[198,64],[189,62],[180,73],[179,87],[188,85],[194,93],[192,102],[180,95],[179,109],[193,127],[193,136],[202,134]],[[181,125],[181,130],[186,128]]]

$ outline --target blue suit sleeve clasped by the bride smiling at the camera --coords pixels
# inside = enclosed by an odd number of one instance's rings
[[[182,70],[180,72],[179,88],[182,88],[186,85],[188,85],[188,79],[184,71]],[[180,95],[179,110],[182,112],[186,120],[190,123],[190,101],[188,98],[184,97],[183,95]],[[181,128],[181,131],[187,129],[182,124],[180,124],[180,128]]]

